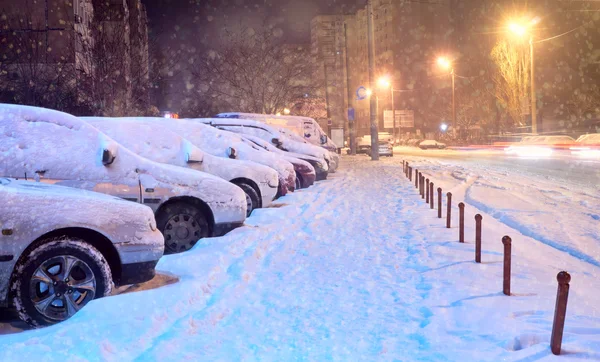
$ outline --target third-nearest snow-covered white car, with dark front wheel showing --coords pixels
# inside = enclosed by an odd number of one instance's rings
[[[82,119],[142,157],[203,171],[239,186],[246,194],[247,216],[254,209],[271,205],[277,194],[279,180],[272,168],[208,154],[166,124],[144,122],[143,118]]]

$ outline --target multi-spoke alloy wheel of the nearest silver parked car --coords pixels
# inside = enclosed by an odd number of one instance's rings
[[[13,301],[19,317],[34,327],[64,321],[113,289],[104,256],[76,238],[42,242],[15,270]]]

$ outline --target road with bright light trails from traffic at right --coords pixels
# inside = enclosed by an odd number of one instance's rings
[[[416,147],[396,147],[396,156],[423,156],[469,168],[487,168],[495,171],[517,171],[531,176],[542,176],[561,183],[600,188],[600,158],[581,158],[568,153],[550,157],[526,158],[507,155],[503,151],[477,150],[421,150]]]

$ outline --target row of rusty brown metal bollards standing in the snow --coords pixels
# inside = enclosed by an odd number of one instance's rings
[[[408,162],[402,161],[404,173],[406,177],[412,182],[413,168],[409,166]],[[419,195],[425,202],[429,204],[430,208],[434,209],[434,183],[433,180],[425,178],[422,172],[415,169],[415,188],[418,190]],[[452,193],[448,192],[447,197],[447,210],[446,210],[446,228],[450,229],[452,220]],[[437,199],[438,199],[438,218],[442,218],[442,188],[437,188]],[[459,228],[458,228],[458,240],[460,243],[465,242],[465,204],[458,204],[459,210]],[[482,221],[483,216],[480,214],[475,215],[475,262],[481,263],[481,239],[482,239]],[[504,236],[502,238],[502,244],[504,245],[504,261],[503,261],[503,273],[502,273],[502,292],[504,295],[510,296],[510,279],[511,279],[511,256],[512,256],[512,239],[510,236]],[[567,313],[567,301],[569,297],[569,283],[571,276],[566,271],[561,271],[556,276],[558,281],[558,291],[556,295],[556,306],[554,309],[554,322],[552,324],[552,336],[550,338],[550,349],[555,355],[559,355],[562,346],[562,337],[565,327],[565,318]]]

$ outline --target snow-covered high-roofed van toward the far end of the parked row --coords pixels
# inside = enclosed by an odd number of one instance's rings
[[[216,118],[251,119],[278,128],[285,128],[313,145],[323,147],[331,152],[336,152],[338,148],[338,146],[327,137],[327,134],[323,131],[319,123],[314,118],[310,117],[229,112],[220,113]]]

